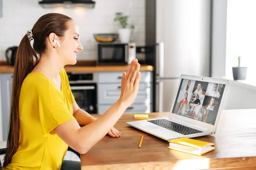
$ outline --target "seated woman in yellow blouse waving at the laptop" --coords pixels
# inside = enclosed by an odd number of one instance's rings
[[[121,135],[113,125],[137,96],[140,64],[135,60],[122,73],[120,98],[96,119],[77,105],[64,69],[76,63],[81,50],[77,26],[63,14],[43,15],[22,38],[3,170],[64,170],[68,146],[85,154],[106,134]],[[80,169],[78,163],[66,169]]]

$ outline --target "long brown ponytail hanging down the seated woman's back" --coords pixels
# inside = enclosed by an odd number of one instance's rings
[[[29,37],[25,35],[20,41],[20,45],[17,50],[14,73],[12,80],[12,99],[11,99],[11,111],[9,120],[9,131],[7,138],[6,155],[3,162],[3,167],[11,163],[12,156],[15,154],[20,133],[20,117],[19,117],[19,98],[20,89],[26,76],[32,71],[34,66],[38,63],[39,58],[36,55],[35,50],[30,44]]]

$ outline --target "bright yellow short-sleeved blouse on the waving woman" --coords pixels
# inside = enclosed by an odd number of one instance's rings
[[[12,161],[3,170],[60,170],[68,145],[55,127],[73,117],[75,99],[65,69],[60,72],[61,90],[41,73],[23,81],[20,100],[20,138]]]

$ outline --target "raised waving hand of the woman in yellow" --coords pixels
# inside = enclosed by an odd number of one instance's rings
[[[127,72],[122,73],[120,101],[129,107],[135,100],[140,83],[140,64],[134,59],[128,66]]]

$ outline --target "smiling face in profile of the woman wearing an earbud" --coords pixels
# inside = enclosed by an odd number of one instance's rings
[[[83,47],[80,43],[79,31],[73,20],[67,22],[68,29],[64,34],[64,37],[58,41],[61,45],[61,50],[58,50],[59,56],[64,65],[73,65],[76,64],[76,53],[83,50]]]

